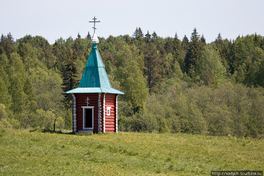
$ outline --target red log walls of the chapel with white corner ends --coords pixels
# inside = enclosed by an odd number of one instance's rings
[[[73,124],[72,130],[78,132],[83,130],[83,108],[82,106],[94,106],[93,108],[93,131],[95,133],[116,132],[117,133],[117,94],[106,93],[79,93],[72,94],[73,97]],[[107,114],[107,108],[110,114]]]

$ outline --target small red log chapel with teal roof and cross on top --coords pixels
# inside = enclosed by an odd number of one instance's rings
[[[111,87],[97,49],[99,39],[91,38],[92,51],[86,62],[82,79],[76,89],[65,92],[72,95],[72,131],[75,133],[105,133],[118,131],[117,97],[123,92]]]

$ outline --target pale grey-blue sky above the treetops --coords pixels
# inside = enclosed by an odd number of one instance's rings
[[[264,35],[264,0],[0,0],[0,33],[11,32],[19,39],[27,34],[40,35],[50,44],[62,37],[84,38],[93,34],[94,16],[96,35],[133,35],[141,27],[144,35],[149,30],[160,37],[190,40],[194,27],[207,43],[219,32],[223,39],[238,35]]]

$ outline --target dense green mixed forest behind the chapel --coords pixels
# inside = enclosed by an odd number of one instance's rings
[[[119,95],[119,131],[264,138],[264,37],[248,34],[206,43],[144,35],[98,37]],[[72,100],[92,48],[91,35],[0,39],[0,128],[72,129]]]

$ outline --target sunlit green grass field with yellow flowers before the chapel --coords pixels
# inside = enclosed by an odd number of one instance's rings
[[[264,141],[191,134],[0,133],[0,175],[210,175],[263,170]]]

